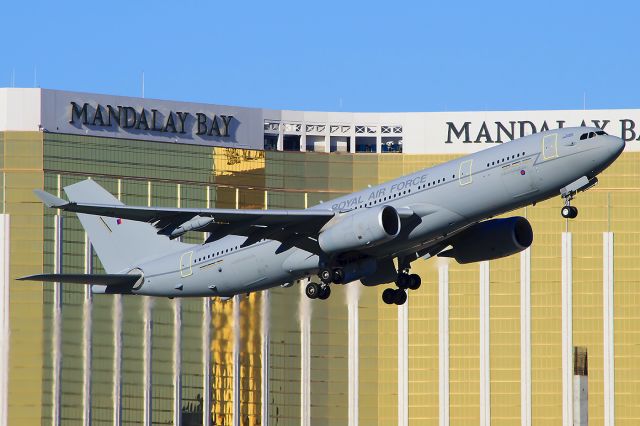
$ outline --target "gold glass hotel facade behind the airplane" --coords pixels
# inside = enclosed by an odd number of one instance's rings
[[[223,208],[304,208],[320,201],[454,158],[442,155],[324,154],[210,148],[126,139],[40,132],[0,133],[3,211],[11,215],[12,279],[52,272],[56,211],[44,209],[31,194],[91,177],[137,205]],[[535,232],[531,249],[531,411],[532,423],[562,419],[561,238],[573,236],[572,337],[589,357],[589,417],[604,419],[603,232],[614,234],[614,351],[616,424],[640,419],[640,154],[625,153],[601,178],[580,194],[580,216],[560,217],[559,199],[522,209]],[[64,214],[63,270],[83,272],[85,237],[76,217]],[[201,241],[190,235],[187,241]],[[43,255],[44,253],[44,255]],[[94,270],[100,271],[94,255]],[[409,423],[437,424],[439,399],[439,309],[437,260],[418,261],[422,288],[408,305]],[[477,424],[481,406],[479,266],[449,267],[449,415],[450,423]],[[520,422],[522,399],[520,345],[520,257],[490,262],[489,359],[491,421]],[[398,419],[398,310],[380,300],[383,287],[361,288],[358,321],[358,417],[361,424],[386,425]],[[51,424],[56,392],[54,351],[62,356],[60,418],[83,418],[84,288],[63,285],[60,347],[54,348],[54,292],[47,284],[11,282],[10,424]],[[239,302],[211,304],[211,365],[202,354],[204,304],[180,302],[179,365],[176,365],[176,302],[122,297],[92,300],[91,420],[140,424],[151,407],[153,424],[181,418],[202,422],[210,407],[213,424],[230,424],[237,407],[242,424],[300,424],[301,398],[309,387],[313,424],[349,421],[347,291],[336,287],[328,301],[301,304],[299,286],[271,290],[268,318],[259,294]],[[239,303],[238,316],[234,303]],[[301,309],[310,306],[309,383],[302,381]],[[147,315],[149,315],[147,317]],[[269,321],[268,395],[262,395],[262,321]],[[122,328],[118,354],[118,321]],[[146,327],[149,327],[148,329]],[[148,331],[147,331],[148,330]],[[147,359],[150,356],[150,359]],[[115,370],[120,357],[121,374]],[[237,362],[238,365],[234,365]],[[234,368],[237,367],[237,368]],[[146,369],[150,368],[150,372]],[[211,401],[203,403],[205,371],[211,376]],[[180,381],[176,382],[176,372]],[[239,389],[234,393],[234,371]],[[147,374],[148,373],[148,374]],[[120,381],[118,381],[118,377]],[[150,401],[145,400],[149,381]],[[117,414],[116,383],[121,385]],[[180,389],[176,391],[176,383]],[[234,401],[234,395],[239,398]],[[401,402],[403,403],[403,402]],[[199,411],[200,410],[200,411]],[[207,417],[205,415],[205,417]]]

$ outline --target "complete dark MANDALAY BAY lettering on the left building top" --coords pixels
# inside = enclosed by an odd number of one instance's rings
[[[69,124],[94,128],[119,128],[143,132],[195,134],[228,137],[232,115],[203,112],[164,111],[122,105],[91,105],[70,102]]]

